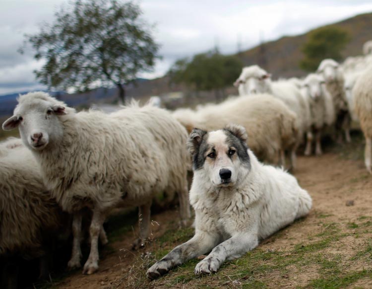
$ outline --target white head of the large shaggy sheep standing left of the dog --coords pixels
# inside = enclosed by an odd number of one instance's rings
[[[63,137],[60,116],[65,115],[64,103],[44,92],[21,95],[14,115],[3,124],[3,130],[16,127],[23,143],[34,149],[42,150],[51,142],[59,142]]]

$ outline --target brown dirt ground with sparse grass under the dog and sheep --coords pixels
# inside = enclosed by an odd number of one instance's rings
[[[371,259],[366,259],[366,254],[363,253],[365,248],[370,248],[372,237],[372,228],[368,227],[368,221],[372,220],[372,176],[365,170],[363,160],[360,157],[345,157],[337,150],[329,151],[321,157],[300,156],[295,176],[312,196],[313,208],[310,215],[264,240],[255,249],[256,254],[269,255],[266,259],[258,259],[257,263],[247,265],[253,266],[249,267],[253,269],[247,270],[248,273],[239,271],[239,264],[245,264],[248,259],[253,262],[257,256],[254,255],[254,250],[238,261],[227,262],[221,272],[209,277],[193,277],[194,262],[189,268],[179,268],[158,281],[149,282],[144,277],[146,267],[149,266],[146,260],[149,259],[148,262],[151,263],[156,258],[149,255],[149,252],[159,249],[159,254],[168,252],[192,236],[192,230],[187,230],[186,236],[180,239],[176,237],[170,241],[160,241],[162,243],[152,242],[145,249],[135,252],[130,250],[131,241],[136,234],[134,229],[123,234],[119,238],[122,241],[114,241],[110,243],[109,249],[101,250],[100,268],[96,274],[82,275],[79,270],[53,282],[52,288],[339,288],[344,285],[350,288],[372,288],[371,274],[368,271],[371,268]],[[157,239],[172,230],[173,236],[177,236],[177,218],[177,210],[153,216],[153,237]],[[310,247],[311,244],[320,246],[320,249]],[[310,251],[307,251],[308,248]],[[299,255],[301,250],[310,252],[310,255]],[[275,255],[273,252],[278,253]],[[306,256],[320,256],[320,259],[313,263],[293,259],[292,263],[280,269],[280,264],[274,264],[278,254],[284,258],[281,262],[293,258],[294,254],[304,256],[304,259],[308,258]],[[257,266],[263,264],[271,266],[267,267],[271,269],[257,271]],[[338,271],[332,266],[337,266]],[[330,273],[327,270],[331,270]],[[350,280],[351,277],[345,275],[348,272],[361,273]],[[346,276],[341,278],[346,283],[339,283],[335,287],[331,286],[333,283],[326,286],[326,283],[321,282],[323,279],[327,280],[327,274],[334,274],[335,278]]]

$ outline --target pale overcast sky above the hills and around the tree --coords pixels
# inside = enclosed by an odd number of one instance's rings
[[[152,73],[162,76],[182,57],[205,52],[215,45],[222,53],[257,45],[260,38],[274,40],[283,35],[304,33],[317,26],[359,13],[372,12],[371,0],[141,0],[143,18],[155,24],[154,37],[161,45],[159,61]],[[38,32],[42,21],[53,15],[66,0],[0,0],[0,95],[43,88],[33,70],[41,63],[33,60],[29,48],[17,49],[24,34]]]

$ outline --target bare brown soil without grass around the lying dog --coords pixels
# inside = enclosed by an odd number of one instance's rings
[[[313,208],[308,217],[300,222],[285,228],[280,233],[263,241],[259,248],[262,250],[290,250],[294,242],[308,240],[308,236],[315,232],[322,232],[326,227],[319,225],[319,216],[326,216],[327,222],[340,224],[341,232],[347,230],[346,223],[357,221],[362,216],[372,216],[372,176],[369,175],[361,159],[345,159],[337,152],[329,152],[321,157],[298,158],[298,169],[295,172],[300,185],[308,190],[313,199]],[[177,210],[166,211],[153,216],[153,237],[157,238],[169,228],[176,228],[174,221],[178,218]],[[350,231],[350,228],[348,229]],[[146,270],[133,267],[134,261],[143,257],[144,252],[151,252],[151,243],[145,250],[132,251],[131,242],[136,235],[129,232],[123,235],[122,241],[111,243],[111,252],[105,252],[100,260],[99,271],[93,275],[82,275],[81,271],[70,274],[64,280],[53,285],[58,289],[111,289],[129,288],[133,270]],[[340,242],[325,249],[327,252],[338,252],[341,256],[352,256],[363,246],[371,234],[367,233],[360,238],[346,237]],[[341,261],[342,262],[342,258]],[[356,260],[348,265],[362,268],[367,264]],[[290,269],[290,268],[289,268]],[[291,270],[290,276],[273,274],[270,287],[298,287],[305,286],[309,280],[318,278],[316,268],[307,268],[299,271]],[[360,279],[355,285],[371,286],[370,279]],[[147,282],[145,288],[154,287],[154,283]],[[156,288],[162,288],[157,283]],[[164,284],[164,287],[168,288]],[[174,286],[175,288],[188,288],[187,285]]]

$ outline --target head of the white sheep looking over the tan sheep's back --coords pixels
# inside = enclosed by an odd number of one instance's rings
[[[267,73],[257,65],[252,65],[243,68],[234,85],[244,85],[245,93],[247,94],[270,93],[270,77],[270,73]]]

